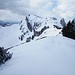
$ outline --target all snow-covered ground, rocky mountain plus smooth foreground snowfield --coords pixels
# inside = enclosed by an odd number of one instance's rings
[[[9,50],[13,57],[0,66],[0,75],[75,75],[75,40],[63,37],[59,34],[61,29],[53,25],[60,26],[54,17],[28,15],[19,25],[1,27],[1,47],[15,46],[29,37],[31,42]],[[42,33],[37,36],[39,31]]]

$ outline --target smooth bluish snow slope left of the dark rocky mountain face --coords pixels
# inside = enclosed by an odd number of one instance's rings
[[[19,25],[14,24],[12,26],[0,28],[0,46],[5,48],[13,46],[19,42]]]

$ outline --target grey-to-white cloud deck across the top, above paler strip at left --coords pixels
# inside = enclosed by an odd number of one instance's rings
[[[68,15],[75,17],[74,7],[75,0],[0,0],[0,10],[18,15],[29,13],[46,15],[47,12],[51,12],[59,17],[68,17]]]

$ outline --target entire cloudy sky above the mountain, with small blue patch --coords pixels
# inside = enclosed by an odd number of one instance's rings
[[[75,0],[0,0],[0,20],[19,21],[27,14],[75,18]]]

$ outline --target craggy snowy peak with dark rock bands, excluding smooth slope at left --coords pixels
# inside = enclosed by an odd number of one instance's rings
[[[19,39],[29,42],[40,35],[47,36],[50,33],[51,36],[51,33],[54,34],[53,31],[57,32],[57,35],[58,30],[54,26],[60,26],[60,22],[55,17],[44,18],[37,15],[28,15],[20,22],[21,35]]]

